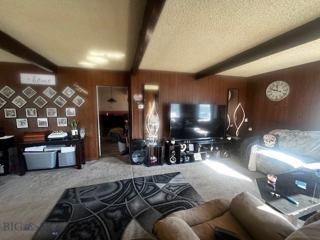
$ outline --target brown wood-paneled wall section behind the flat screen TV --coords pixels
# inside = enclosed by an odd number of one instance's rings
[[[169,138],[169,103],[213,103],[226,104],[227,89],[239,89],[239,101],[245,106],[246,79],[212,75],[195,79],[195,74],[139,70],[131,76],[131,95],[143,92],[143,84],[159,85],[159,140]],[[133,102],[132,109],[132,138],[143,137],[143,110]]]

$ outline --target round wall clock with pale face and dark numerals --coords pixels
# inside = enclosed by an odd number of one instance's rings
[[[290,92],[290,85],[285,81],[273,81],[265,90],[267,98],[271,101],[279,101]]]

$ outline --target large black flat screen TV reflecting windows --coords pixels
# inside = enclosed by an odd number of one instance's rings
[[[226,105],[170,104],[170,137],[210,139],[225,136]]]

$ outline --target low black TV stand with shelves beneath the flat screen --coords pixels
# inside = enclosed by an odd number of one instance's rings
[[[198,140],[182,139],[175,141],[174,145],[166,142],[164,145],[164,158],[169,165],[218,157],[225,158],[229,156],[229,152],[224,148],[224,144],[229,144],[230,142],[231,141],[220,137]],[[184,151],[181,151],[182,144],[186,145]],[[172,159],[176,160],[173,162]]]

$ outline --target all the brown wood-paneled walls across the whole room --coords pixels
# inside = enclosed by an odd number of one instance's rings
[[[57,94],[63,96],[67,103],[59,108],[52,99],[42,92],[45,85],[31,85],[37,91],[28,99],[21,91],[27,86],[20,83],[19,73],[47,72],[31,64],[0,63],[0,89],[8,85],[15,93],[8,99],[0,96],[7,103],[0,109],[0,126],[5,127],[7,134],[14,134],[20,140],[25,131],[39,130],[64,130],[69,127],[57,127],[56,118],[48,117],[49,127],[37,127],[36,118],[28,118],[29,128],[16,128],[15,118],[5,118],[3,108],[16,108],[17,117],[25,118],[26,107],[36,107],[33,100],[41,95],[48,103],[37,108],[38,117],[46,117],[45,108],[55,107],[59,117],[65,117],[65,107],[75,107],[79,126],[86,129],[85,155],[86,160],[98,159],[98,118],[96,102],[96,85],[127,86],[129,91],[130,132],[132,138],[143,136],[143,110],[138,109],[137,103],[132,101],[132,95],[143,92],[143,84],[159,85],[159,116],[161,126],[159,139],[164,141],[169,137],[169,103],[214,103],[226,104],[227,89],[239,89],[239,101],[242,103],[248,122],[242,127],[241,134],[249,135],[247,127],[252,127],[252,135],[265,133],[275,128],[320,130],[318,119],[320,117],[320,62],[308,63],[290,67],[274,72],[269,72],[249,78],[212,75],[196,80],[194,74],[139,70],[136,75],[130,76],[129,72],[92,70],[84,68],[59,67],[56,75],[57,85],[51,86]],[[130,82],[131,78],[131,82]],[[291,86],[291,92],[285,99],[273,102],[266,98],[265,89],[274,80],[285,80]],[[77,90],[75,94],[85,99],[81,107],[72,103],[73,99],[67,98],[61,92],[69,86],[75,89],[74,83],[79,84],[88,91],[88,95]],[[75,96],[74,94],[74,96]],[[11,103],[12,99],[20,95],[27,104],[21,108]],[[71,120],[73,117],[68,117]]]

